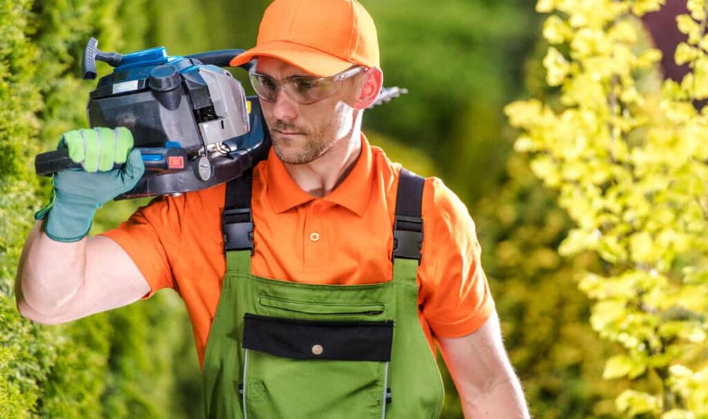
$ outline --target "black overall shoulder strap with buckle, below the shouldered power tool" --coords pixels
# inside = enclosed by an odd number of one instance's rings
[[[226,184],[222,216],[224,251],[250,250],[253,254],[253,217],[251,217],[251,183],[253,168]]]

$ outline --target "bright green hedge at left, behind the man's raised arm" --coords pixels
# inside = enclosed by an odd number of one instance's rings
[[[86,40],[96,36],[108,50],[141,47],[149,37],[150,15],[140,13],[147,4],[0,0],[1,418],[187,417],[169,410],[183,399],[174,371],[184,371],[185,362],[192,365],[185,374],[198,368],[176,295],[39,326],[19,316],[12,289],[32,213],[50,190],[33,174],[33,156],[67,129],[86,126],[94,84],[79,78]],[[96,220],[99,228],[132,210],[108,207]]]

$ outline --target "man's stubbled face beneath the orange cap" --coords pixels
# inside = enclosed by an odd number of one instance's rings
[[[312,76],[270,57],[260,57],[256,71],[278,81],[292,76]],[[350,134],[355,110],[347,101],[355,97],[355,79],[344,80],[336,95],[308,105],[295,102],[282,90],[278,91],[275,102],[261,100],[273,151],[282,162],[291,165],[310,163]]]

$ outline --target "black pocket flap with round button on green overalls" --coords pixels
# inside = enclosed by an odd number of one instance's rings
[[[246,349],[302,360],[391,360],[394,322],[317,321],[244,315]]]

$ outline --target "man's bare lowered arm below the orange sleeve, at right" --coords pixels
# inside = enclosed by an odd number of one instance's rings
[[[467,336],[438,338],[465,418],[529,418],[521,384],[501,340],[496,313]]]

